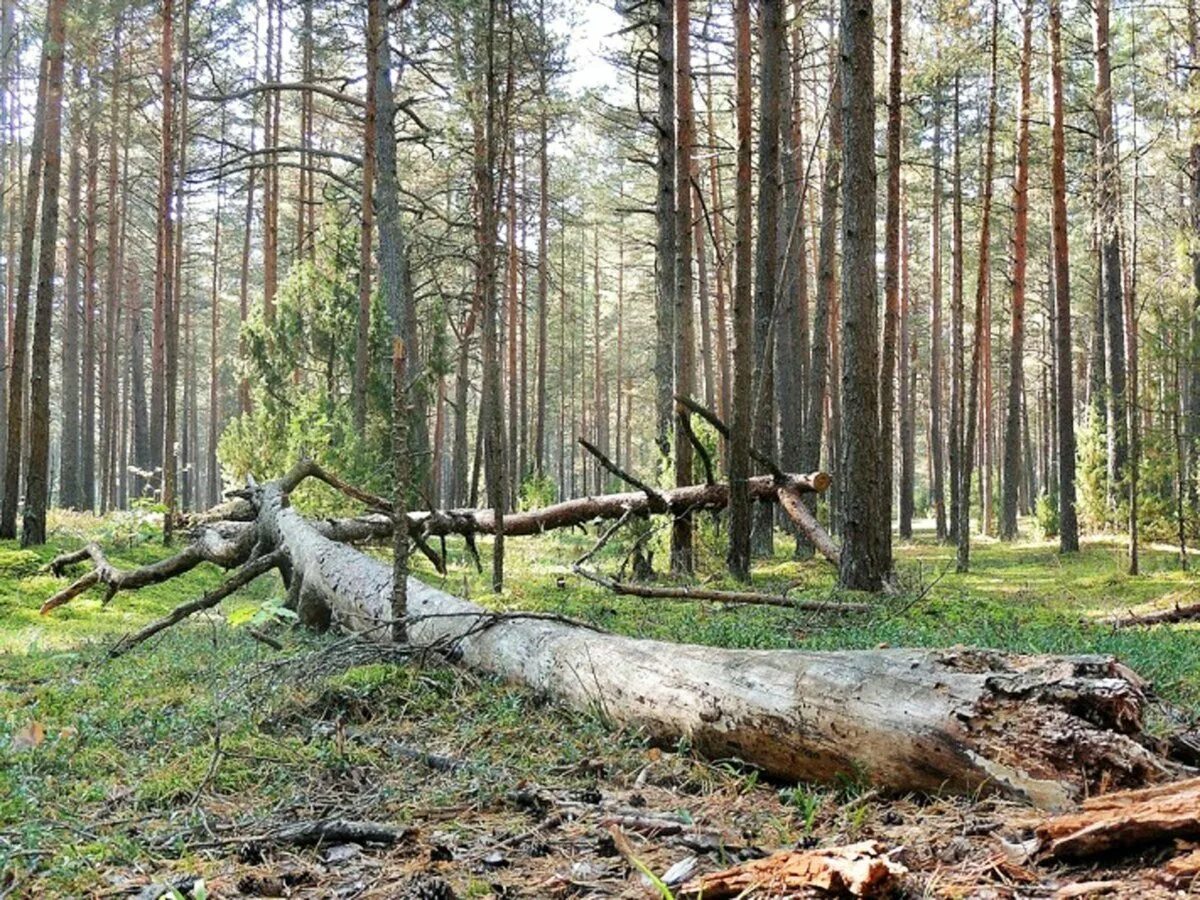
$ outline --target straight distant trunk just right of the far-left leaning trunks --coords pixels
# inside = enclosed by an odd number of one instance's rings
[[[67,162],[66,270],[62,274],[62,430],[59,439],[59,505],[79,509],[79,401],[80,331],[83,308],[79,296],[79,204],[83,190],[79,145],[83,143],[83,64],[71,66],[71,149]]]

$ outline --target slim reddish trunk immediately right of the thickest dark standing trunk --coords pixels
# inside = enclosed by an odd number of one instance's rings
[[[904,53],[901,0],[888,4],[888,128],[887,128],[887,211],[883,234],[883,344],[880,353],[880,500],[883,524],[892,530],[892,494],[895,397],[896,331],[900,317],[900,68]],[[884,571],[892,568],[892,541],[884,546]]]

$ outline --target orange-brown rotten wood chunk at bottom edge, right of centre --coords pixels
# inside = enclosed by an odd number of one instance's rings
[[[702,875],[683,886],[685,898],[726,900],[806,895],[892,896],[907,869],[888,858],[883,845],[862,841],[828,850],[787,850],[732,869]]]

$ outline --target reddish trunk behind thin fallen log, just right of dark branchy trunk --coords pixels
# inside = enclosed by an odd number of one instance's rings
[[[689,0],[674,0],[676,64],[676,155],[674,155],[674,394],[690,397],[696,388],[696,329],[691,282],[691,148],[695,121],[691,103],[691,16]],[[683,407],[676,407],[674,470],[676,487],[692,482],[692,448],[686,438]],[[691,516],[684,512],[671,524],[671,571],[692,571]]]

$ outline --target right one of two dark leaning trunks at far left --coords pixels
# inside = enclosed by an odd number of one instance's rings
[[[29,458],[25,463],[25,515],[20,544],[46,544],[46,508],[50,493],[50,320],[54,316],[54,264],[58,256],[59,174],[62,163],[62,50],[66,42],[66,0],[47,8],[46,145],[42,167],[42,234],[37,260],[37,300],[34,313],[32,367],[29,392]]]

